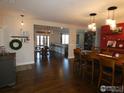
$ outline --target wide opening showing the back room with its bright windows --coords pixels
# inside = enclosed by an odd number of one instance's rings
[[[69,30],[62,27],[34,25],[35,58],[59,53],[68,57]],[[44,52],[45,51],[45,52]]]

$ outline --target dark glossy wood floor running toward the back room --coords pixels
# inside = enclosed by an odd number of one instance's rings
[[[60,54],[39,56],[33,69],[17,72],[17,84],[0,93],[96,93],[96,84],[75,75],[72,63]]]

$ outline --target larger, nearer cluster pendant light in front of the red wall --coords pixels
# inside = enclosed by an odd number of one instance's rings
[[[116,20],[114,19],[114,10],[116,10],[116,6],[111,6],[108,8],[108,18],[106,19],[106,25],[110,26],[110,29],[112,31],[116,30]],[[110,15],[111,12],[111,15]]]

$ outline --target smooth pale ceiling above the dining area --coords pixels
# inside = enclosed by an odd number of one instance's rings
[[[86,26],[89,14],[96,12],[97,24],[104,24],[107,8],[117,6],[115,19],[124,21],[124,0],[0,0],[0,9],[33,18]],[[16,15],[17,16],[17,15]]]

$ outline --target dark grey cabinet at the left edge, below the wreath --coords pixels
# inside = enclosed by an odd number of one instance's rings
[[[12,86],[16,83],[16,54],[0,55],[0,87]]]

